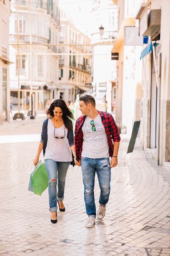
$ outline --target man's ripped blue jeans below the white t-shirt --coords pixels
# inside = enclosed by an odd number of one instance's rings
[[[99,204],[105,206],[110,195],[110,161],[108,157],[97,159],[82,157],[81,166],[86,213],[88,216],[96,217],[94,197],[95,172],[97,173],[100,187]]]

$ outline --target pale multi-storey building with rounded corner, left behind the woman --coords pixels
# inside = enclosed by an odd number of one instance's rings
[[[57,0],[11,1],[10,91],[14,110],[27,113],[33,105],[35,111],[44,110],[48,100],[59,97],[59,28]]]

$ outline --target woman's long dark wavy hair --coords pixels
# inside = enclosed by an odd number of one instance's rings
[[[71,119],[75,120],[75,118],[74,118],[73,113],[71,112],[71,110],[67,107],[65,101],[63,99],[55,99],[51,103],[49,109],[46,111],[46,114],[50,115],[50,118],[54,117],[53,110],[55,109],[55,107],[61,108],[61,110],[63,112],[62,117],[63,117],[64,125],[68,130],[71,130],[72,127],[71,127],[71,124],[70,124],[69,120],[71,120]]]

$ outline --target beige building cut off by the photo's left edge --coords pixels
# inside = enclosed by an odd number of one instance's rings
[[[0,125],[10,120],[9,16],[11,1],[0,1]]]

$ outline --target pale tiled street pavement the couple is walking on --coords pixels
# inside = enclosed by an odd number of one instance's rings
[[[51,223],[48,190],[42,196],[28,191],[44,119],[0,126],[0,256],[170,256],[170,172],[157,166],[138,138],[126,154],[129,138],[121,135],[103,220],[85,227],[81,167],[70,166],[66,211],[58,210],[58,222]],[[97,209],[98,200],[96,180]]]

